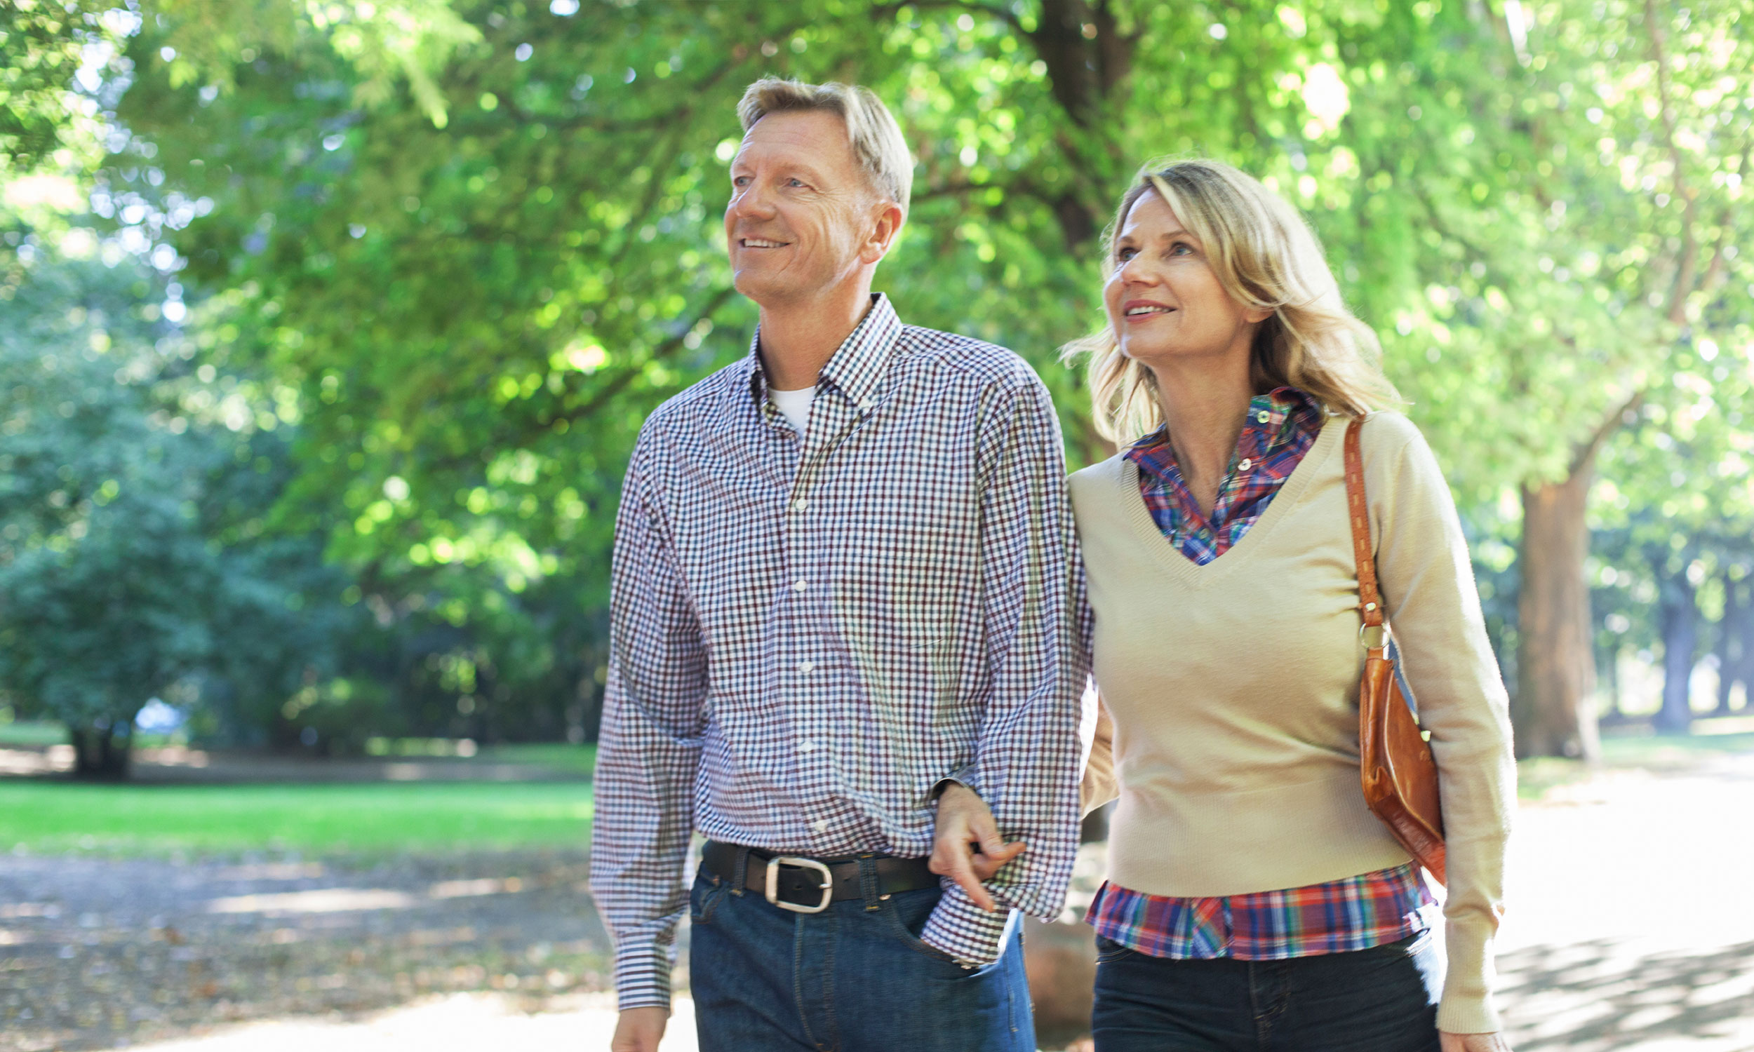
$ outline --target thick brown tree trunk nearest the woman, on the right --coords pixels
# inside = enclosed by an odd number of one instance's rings
[[[1517,601],[1517,756],[1600,759],[1584,505],[1594,458],[1563,482],[1522,487],[1522,589]]]

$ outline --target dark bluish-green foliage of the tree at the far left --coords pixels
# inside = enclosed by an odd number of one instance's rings
[[[139,307],[156,274],[21,258],[0,302],[0,687],[75,733],[126,736],[153,696],[265,722],[324,666],[340,615],[305,603],[330,577],[317,545],[260,537],[284,451],[175,412],[179,391],[223,407],[225,384]]]

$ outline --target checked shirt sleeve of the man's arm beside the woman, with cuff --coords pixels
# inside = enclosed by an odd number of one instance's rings
[[[966,784],[1000,835],[1028,850],[988,882],[988,913],[949,884],[921,938],[963,964],[998,957],[1005,906],[1059,913],[1079,831],[1084,680],[1080,565],[1059,423],[1040,380],[995,400],[980,424],[980,584],[988,698]],[[961,780],[961,778],[959,778]]]

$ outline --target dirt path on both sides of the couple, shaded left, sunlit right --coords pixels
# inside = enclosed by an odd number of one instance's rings
[[[584,857],[0,857],[0,1052],[607,1047]],[[1500,945],[1522,1052],[1754,1052],[1754,756],[1524,807]],[[686,1017],[667,1052],[691,1052]],[[158,1043],[154,1043],[158,1041]]]

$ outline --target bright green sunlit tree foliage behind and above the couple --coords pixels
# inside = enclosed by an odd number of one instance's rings
[[[1505,656],[1522,487],[1605,447],[1607,500],[1656,501],[1636,451],[1689,398],[1721,433],[1670,440],[1724,472],[1747,452],[1733,0],[142,12],[91,91],[116,121],[93,203],[198,303],[191,365],[217,379],[167,391],[175,412],[268,465],[209,482],[247,482],[226,503],[256,510],[196,535],[275,582],[251,619],[282,589],[368,626],[316,675],[261,677],[237,726],[588,733],[626,451],[660,400],[747,352],[717,209],[735,98],[763,74],[893,103],[917,170],[881,288],[909,321],[1024,354],[1073,466],[1109,451],[1056,349],[1100,319],[1098,233],[1137,167],[1214,154],[1293,198],[1451,472]],[[1707,340],[1717,363],[1694,361]],[[1747,498],[1729,473],[1670,489]]]

